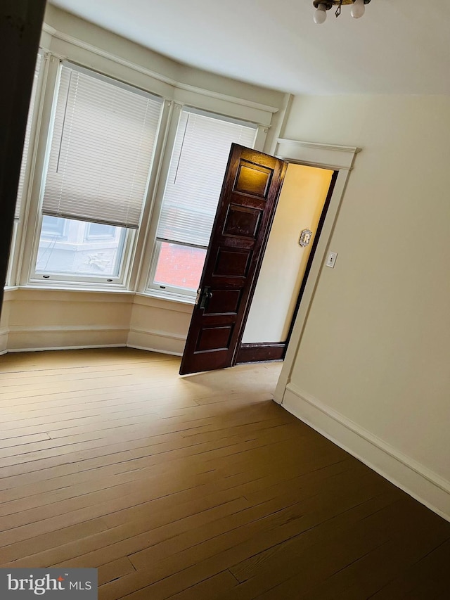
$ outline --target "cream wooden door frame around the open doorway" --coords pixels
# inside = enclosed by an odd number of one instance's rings
[[[288,340],[283,368],[281,369],[281,374],[276,385],[274,400],[278,404],[283,402],[283,394],[286,385],[290,382],[293,364],[297,357],[297,348],[304,333],[309,309],[314,300],[317,284],[319,283],[321,270],[326,262],[330,238],[333,234],[340,204],[345,194],[349,174],[353,168],[356,154],[360,151],[361,148],[357,148],[356,146],[338,146],[335,144],[330,145],[326,143],[278,138],[276,140],[274,151],[272,152],[276,158],[281,158],[282,160],[285,160],[285,162],[293,162],[297,165],[319,167],[338,172],[326,217],[323,221],[319,242],[317,243],[316,252],[314,253],[314,258],[311,262],[311,268],[302,293],[302,301],[300,302],[297,317],[295,317],[290,338]]]

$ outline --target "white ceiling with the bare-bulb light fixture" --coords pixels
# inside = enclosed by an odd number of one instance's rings
[[[450,94],[448,0],[50,0],[182,63],[295,94]]]

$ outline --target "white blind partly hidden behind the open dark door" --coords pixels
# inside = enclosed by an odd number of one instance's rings
[[[253,147],[256,125],[181,111],[157,239],[206,247],[231,143]]]

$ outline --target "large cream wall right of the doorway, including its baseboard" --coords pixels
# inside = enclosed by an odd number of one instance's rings
[[[282,374],[288,409],[447,516],[449,132],[448,97],[295,98],[285,138],[363,151],[330,240],[338,260],[322,269]],[[411,472],[358,449],[350,430]]]

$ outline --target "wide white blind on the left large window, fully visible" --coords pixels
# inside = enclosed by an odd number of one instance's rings
[[[162,100],[62,66],[42,212],[139,226]]]

